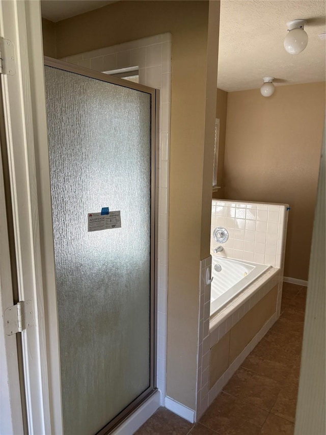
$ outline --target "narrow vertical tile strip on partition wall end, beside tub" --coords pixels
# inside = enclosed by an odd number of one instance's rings
[[[196,420],[208,407],[209,390],[209,310],[210,310],[210,284],[207,277],[211,277],[211,255],[200,261],[199,276],[199,324],[198,324],[198,359],[197,359],[197,396],[196,396]]]

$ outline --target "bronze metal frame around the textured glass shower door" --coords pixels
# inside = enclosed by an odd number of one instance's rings
[[[140,406],[148,397],[157,391],[156,388],[156,331],[157,331],[157,232],[158,232],[158,119],[159,119],[159,91],[138,83],[129,82],[124,79],[117,78],[103,72],[94,71],[88,68],[76,66],[67,62],[57,59],[52,59],[44,56],[44,65],[53,68],[58,68],[64,71],[72,72],[85,77],[100,80],[102,82],[110,83],[125,88],[134,89],[137,91],[145,92],[151,95],[151,231],[150,231],[150,386],[133,402],[131,402],[121,413],[105,425],[97,435],[105,435],[110,433],[117,425],[125,420],[138,406]],[[51,221],[51,231],[52,221]],[[54,267],[54,265],[53,265]],[[53,297],[51,298],[52,301]],[[55,364],[55,377],[60,382],[61,391],[61,376],[60,376],[60,354],[59,354],[59,337],[58,337],[58,305],[57,305],[57,292],[56,292],[56,313],[57,313],[57,334],[53,335],[53,340],[57,342],[59,361]],[[46,326],[48,322],[46,322]],[[51,341],[51,331],[53,325],[47,328],[48,338]],[[53,355],[54,356],[54,355]],[[59,379],[58,379],[59,375]],[[50,376],[52,379],[53,377]],[[54,380],[54,379],[53,379]],[[54,398],[58,405],[58,398]],[[62,406],[60,394],[60,405]],[[61,413],[62,415],[62,413]],[[62,416],[61,416],[62,418]],[[61,423],[63,427],[63,422]]]

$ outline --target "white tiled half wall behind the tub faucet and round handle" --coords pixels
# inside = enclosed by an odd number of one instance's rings
[[[212,200],[211,254],[283,269],[287,223],[287,204],[262,204]],[[229,239],[224,250],[214,254],[220,244],[213,238],[216,226],[224,226]]]

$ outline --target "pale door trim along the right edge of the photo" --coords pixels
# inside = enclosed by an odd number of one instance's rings
[[[326,123],[324,124],[317,201],[309,266],[309,285],[295,414],[295,435],[323,434],[325,425],[325,196]]]

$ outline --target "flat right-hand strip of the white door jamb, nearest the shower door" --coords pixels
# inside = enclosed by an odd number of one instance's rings
[[[44,395],[49,401],[50,414],[45,421],[50,426],[46,433],[63,433],[61,403],[61,372],[55,259],[53,249],[52,207],[50,195],[50,172],[48,158],[48,136],[44,85],[44,58],[42,27],[39,2],[25,2],[29,10],[30,83],[32,90],[33,127],[35,138],[35,182],[39,211],[41,259],[38,267],[42,270],[44,294],[44,323],[46,334],[47,385]]]

